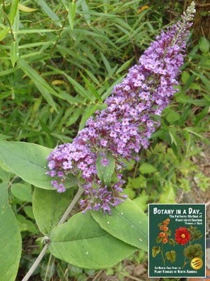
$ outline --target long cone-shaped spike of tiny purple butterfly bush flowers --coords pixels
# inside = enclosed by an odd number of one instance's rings
[[[87,209],[111,214],[111,207],[123,202],[122,171],[124,161],[138,161],[141,148],[148,148],[151,134],[160,126],[162,110],[176,93],[177,77],[181,73],[186,42],[195,13],[195,3],[183,13],[181,21],[172,25],[149,46],[130,68],[127,77],[116,85],[104,103],[106,109],[94,113],[72,143],[64,143],[48,157],[47,172],[57,192],[65,191],[69,174],[82,178],[85,199],[80,200],[83,212]],[[115,159],[117,180],[109,185],[97,176],[97,158],[100,165],[109,166],[109,157]]]

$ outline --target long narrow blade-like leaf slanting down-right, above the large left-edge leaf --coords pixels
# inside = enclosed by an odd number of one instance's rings
[[[25,60],[22,60],[19,58],[18,64],[20,65],[20,68],[22,69],[25,74],[34,82],[34,85],[40,91],[40,93],[43,95],[45,100],[49,103],[52,108],[57,111],[56,104],[54,100],[52,99],[51,94],[55,94],[57,96],[57,93],[54,89],[41,77],[36,70],[34,70]],[[51,93],[51,94],[50,94]]]

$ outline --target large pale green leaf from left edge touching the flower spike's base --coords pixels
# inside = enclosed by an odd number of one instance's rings
[[[51,151],[33,143],[0,141],[0,165],[38,188],[54,189],[52,178],[45,175]]]

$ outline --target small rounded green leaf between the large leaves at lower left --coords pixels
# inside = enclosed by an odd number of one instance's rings
[[[32,188],[28,183],[13,183],[11,192],[22,201],[32,202]]]

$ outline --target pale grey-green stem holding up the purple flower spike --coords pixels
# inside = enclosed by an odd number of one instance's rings
[[[75,206],[75,204],[78,201],[79,197],[85,191],[84,188],[80,185],[80,183],[78,183],[78,187],[79,188],[78,188],[78,191],[76,192],[75,197],[73,197],[73,200],[71,201],[69,207],[66,209],[66,211],[64,212],[62,218],[59,220],[57,225],[62,224],[62,223],[64,223],[64,221],[66,221],[66,218],[71,213],[71,210]],[[27,275],[25,275],[25,277],[22,279],[22,281],[28,281],[29,280],[29,277],[31,277],[31,275],[34,273],[34,270],[37,268],[37,266],[39,265],[39,263],[43,259],[43,256],[45,255],[45,253],[46,253],[46,251],[48,249],[48,245],[49,245],[49,242],[47,244],[45,244],[45,247],[43,247],[43,249],[41,250],[40,254],[38,255],[36,261],[34,261],[34,264],[31,266],[31,268],[27,272]]]

